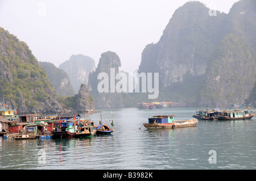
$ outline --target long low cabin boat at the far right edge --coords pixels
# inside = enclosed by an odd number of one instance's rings
[[[256,114],[253,111],[242,111],[242,110],[234,110],[234,111],[227,111],[225,110],[218,120],[246,120],[251,119]]]

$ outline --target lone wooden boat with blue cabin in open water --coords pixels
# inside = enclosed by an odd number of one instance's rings
[[[144,123],[147,129],[175,129],[183,127],[195,127],[199,122],[197,119],[174,120],[174,115],[159,115],[148,118],[148,123]]]

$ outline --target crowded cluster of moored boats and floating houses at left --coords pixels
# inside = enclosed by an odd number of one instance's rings
[[[98,125],[90,119],[80,119],[78,113],[61,113],[57,116],[40,116],[36,114],[16,115],[14,110],[0,110],[0,136],[15,140],[35,138],[70,138],[91,137],[96,134],[111,134],[112,128],[107,124]],[[86,117],[86,113],[85,113]]]

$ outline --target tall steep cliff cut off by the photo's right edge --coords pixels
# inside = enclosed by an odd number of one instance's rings
[[[222,37],[214,49],[207,68],[199,103],[226,105],[245,103],[255,84],[256,68],[256,3],[242,0],[235,3],[226,16]]]

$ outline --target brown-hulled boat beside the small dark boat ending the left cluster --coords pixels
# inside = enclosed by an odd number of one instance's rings
[[[75,137],[90,137],[96,135],[94,123],[90,120],[81,120],[77,125]]]

